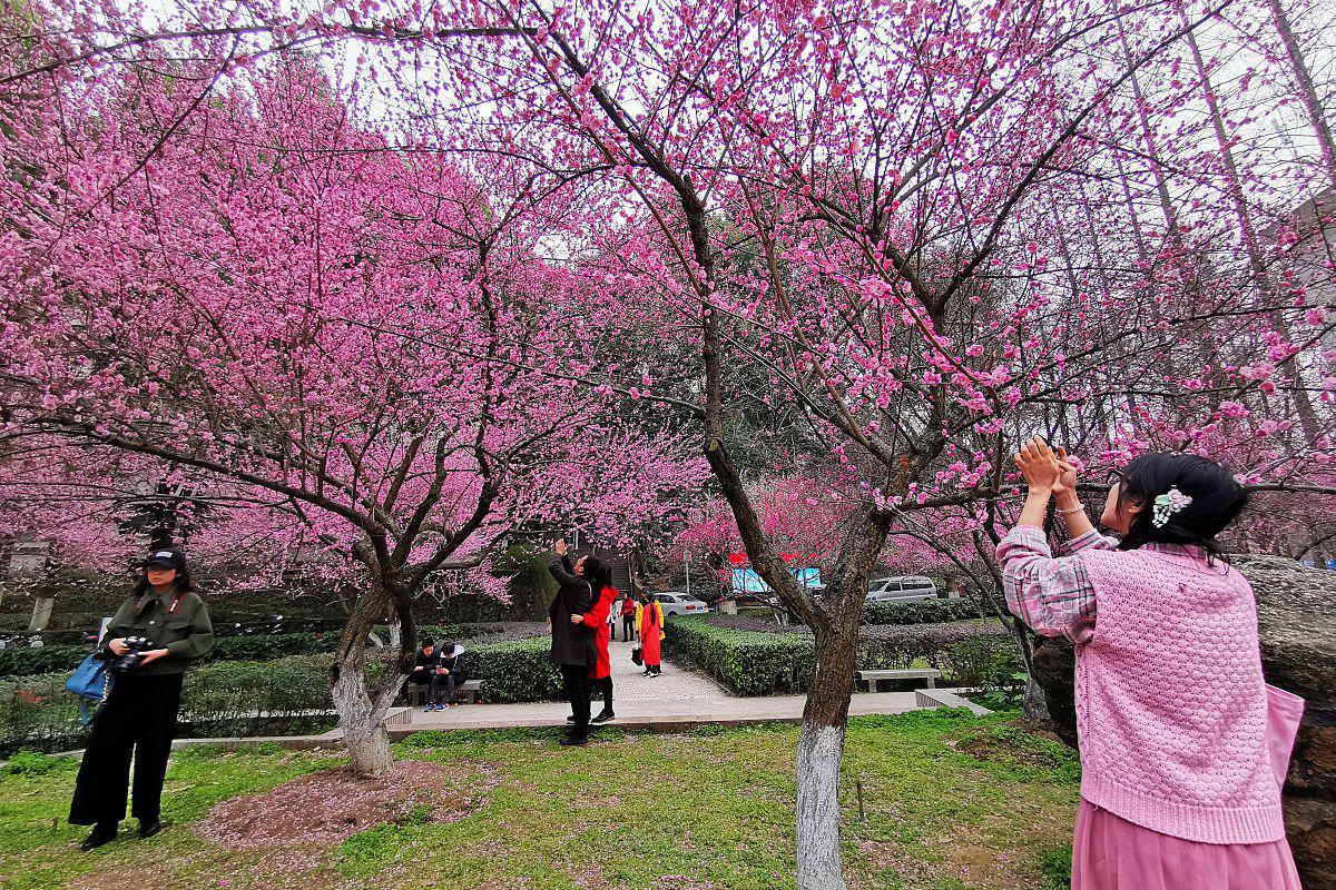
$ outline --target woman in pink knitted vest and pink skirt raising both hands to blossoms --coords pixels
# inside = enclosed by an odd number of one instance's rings
[[[1218,463],[1137,458],[1100,522],[1042,439],[1017,463],[1029,494],[998,546],[1007,606],[1077,648],[1077,890],[1300,890],[1280,811],[1303,701],[1261,674],[1252,587],[1218,535],[1246,494]],[[1070,556],[1043,534],[1050,502]]]

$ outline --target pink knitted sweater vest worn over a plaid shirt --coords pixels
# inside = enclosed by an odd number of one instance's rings
[[[1194,548],[1075,559],[1098,603],[1077,647],[1081,797],[1188,841],[1284,838],[1252,587]]]

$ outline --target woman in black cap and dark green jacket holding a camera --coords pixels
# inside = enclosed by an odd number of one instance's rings
[[[139,819],[139,837],[162,831],[163,779],[176,735],[182,678],[214,647],[214,624],[190,576],[186,554],[163,547],[150,554],[143,567],[134,594],[106,634],[110,658],[120,659],[132,648],[142,656],[130,670],[116,670],[115,662],[108,669],[111,690],[94,718],[69,802],[69,823],[94,826],[80,845],[84,851],[116,839],[118,823],[126,818],[131,755],[131,815]]]

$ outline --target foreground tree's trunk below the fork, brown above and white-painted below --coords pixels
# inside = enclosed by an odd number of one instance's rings
[[[839,591],[832,591],[839,592]],[[839,774],[854,690],[858,624],[852,634],[812,628],[816,669],[798,741],[798,890],[844,890],[840,859]]]

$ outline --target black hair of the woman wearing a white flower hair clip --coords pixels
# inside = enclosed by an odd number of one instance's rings
[[[1118,550],[1144,544],[1194,544],[1210,556],[1220,556],[1216,535],[1238,518],[1248,504],[1248,492],[1233,474],[1214,460],[1190,454],[1157,452],[1136,458],[1118,474],[1118,504],[1141,507],[1128,527]],[[1177,488],[1192,503],[1156,527],[1156,498]]]

